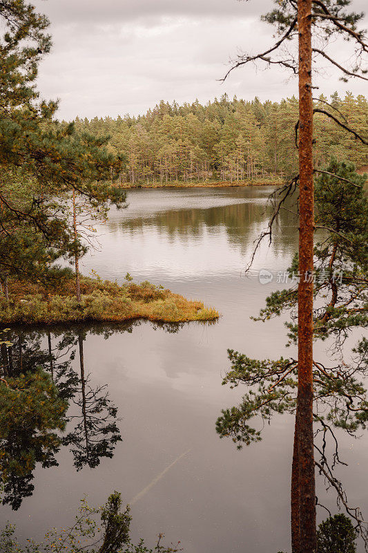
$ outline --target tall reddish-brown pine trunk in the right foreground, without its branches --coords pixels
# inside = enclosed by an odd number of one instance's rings
[[[299,32],[299,272],[298,289],[298,465],[300,552],[316,552],[316,485],[313,451],[313,100],[311,5],[298,0]]]

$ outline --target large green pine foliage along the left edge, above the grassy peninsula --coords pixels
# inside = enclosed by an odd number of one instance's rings
[[[57,102],[39,100],[37,68],[50,50],[49,21],[24,0],[1,3],[0,41],[0,279],[11,275],[55,281],[54,261],[86,251],[70,232],[70,191],[90,207],[118,207],[124,191],[105,182],[122,168],[107,137],[77,132],[54,120]],[[104,182],[100,182],[104,181]]]

